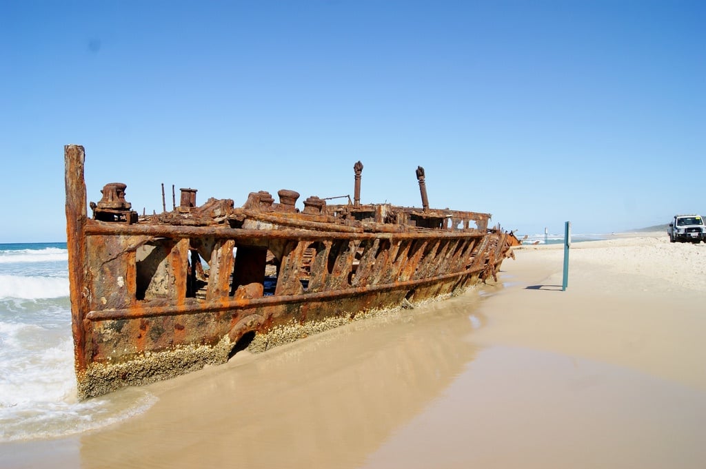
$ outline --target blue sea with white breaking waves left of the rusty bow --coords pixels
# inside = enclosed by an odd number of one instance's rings
[[[0,441],[84,432],[153,401],[136,389],[78,401],[66,243],[0,243]]]

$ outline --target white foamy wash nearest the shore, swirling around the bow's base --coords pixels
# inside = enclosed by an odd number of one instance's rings
[[[85,432],[155,403],[144,389],[78,401],[70,323],[51,322],[0,321],[0,441]]]

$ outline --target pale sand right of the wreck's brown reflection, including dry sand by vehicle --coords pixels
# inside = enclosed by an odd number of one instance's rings
[[[563,246],[516,256],[474,360],[362,467],[704,467],[706,245],[575,243],[566,291]]]

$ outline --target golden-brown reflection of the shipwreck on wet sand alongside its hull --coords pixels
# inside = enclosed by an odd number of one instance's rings
[[[82,466],[356,467],[473,360],[477,303],[468,293],[157,383],[145,415],[81,438]]]

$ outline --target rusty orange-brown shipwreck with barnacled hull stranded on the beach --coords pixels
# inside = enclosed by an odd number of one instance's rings
[[[167,379],[354,318],[443,298],[496,276],[512,252],[490,214],[331,205],[280,190],[242,207],[181,190],[177,206],[138,216],[123,183],[88,200],[85,152],[64,147],[71,317],[79,398]],[[162,189],[164,206],[164,190]]]

